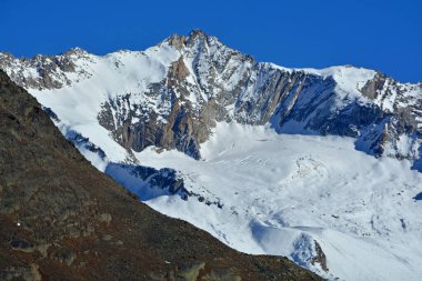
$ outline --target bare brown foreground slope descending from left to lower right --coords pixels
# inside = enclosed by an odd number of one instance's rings
[[[0,116],[1,280],[318,280],[140,203],[1,71]]]

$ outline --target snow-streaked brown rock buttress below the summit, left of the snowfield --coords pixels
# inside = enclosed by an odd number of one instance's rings
[[[210,124],[207,126],[202,119],[193,121],[190,111],[179,103],[172,106],[165,123],[158,122],[157,118],[157,113],[147,114],[137,104],[131,106],[124,97],[105,102],[98,116],[99,123],[127,149],[142,151],[149,145],[157,145],[178,149],[194,159],[200,158],[199,143],[207,140]],[[133,122],[133,119],[138,121]],[[117,123],[113,120],[118,120]]]

